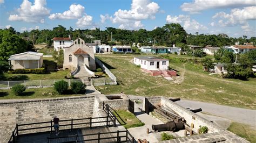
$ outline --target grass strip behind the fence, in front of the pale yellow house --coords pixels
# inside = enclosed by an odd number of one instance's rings
[[[49,71],[47,74],[9,74],[5,73],[0,81],[24,81],[24,80],[62,80],[69,75],[69,70]]]

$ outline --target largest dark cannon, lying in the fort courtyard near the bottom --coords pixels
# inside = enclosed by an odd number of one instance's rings
[[[152,125],[152,130],[154,131],[179,131],[185,128],[183,123],[175,123],[174,121],[169,121],[165,124]]]

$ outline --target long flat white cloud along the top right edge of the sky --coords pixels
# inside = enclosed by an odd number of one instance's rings
[[[183,3],[183,5],[181,5],[180,8],[183,11],[198,13],[200,11],[208,9],[237,8],[241,6],[253,5],[255,5],[255,0],[194,0],[191,3]]]

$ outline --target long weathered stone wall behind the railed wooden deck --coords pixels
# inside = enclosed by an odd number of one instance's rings
[[[89,118],[93,113],[94,102],[95,96],[1,102],[0,142],[9,140],[16,124],[50,121],[55,115],[57,115],[60,120]],[[60,125],[61,124],[64,123],[60,123]],[[44,124],[43,126],[49,125]],[[60,127],[60,130],[61,129],[62,127]],[[50,128],[45,128],[45,130],[49,131]],[[29,132],[30,131],[19,133]]]

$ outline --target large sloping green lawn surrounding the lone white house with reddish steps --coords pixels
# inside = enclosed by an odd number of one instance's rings
[[[97,55],[116,75],[119,85],[103,85],[96,89],[103,94],[119,94],[123,91],[127,95],[180,97],[256,109],[256,78],[249,81],[223,79],[208,75],[201,66],[176,59],[170,62],[170,66],[178,71],[179,76],[174,82],[166,81],[163,77],[150,76],[136,67],[133,64],[133,56],[138,55]],[[169,56],[177,58],[174,54]]]

